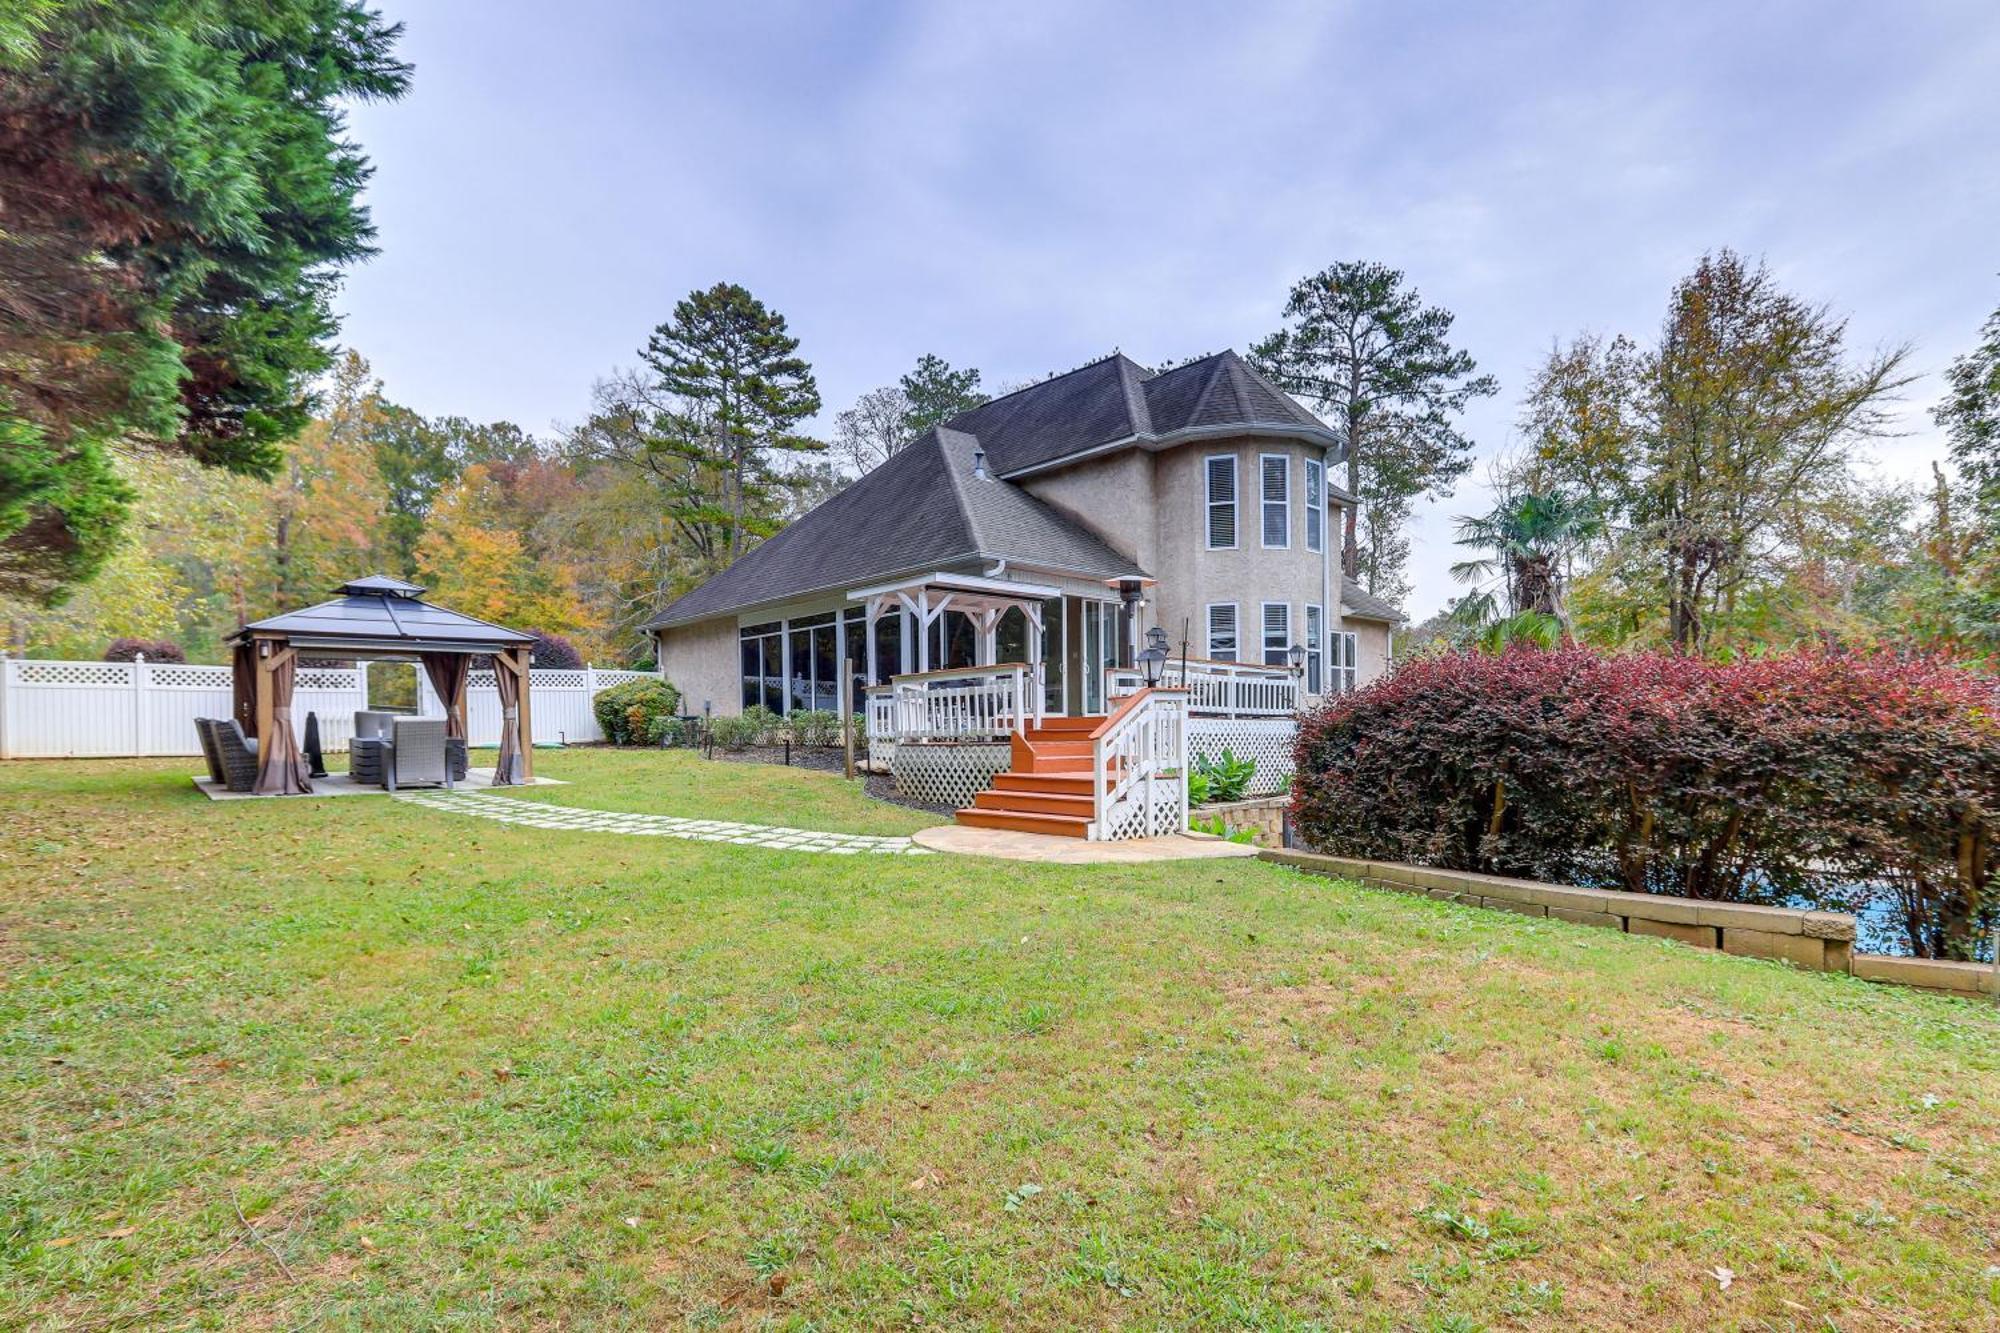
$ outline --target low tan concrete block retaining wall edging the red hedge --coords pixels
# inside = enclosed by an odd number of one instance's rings
[[[1570,889],[1532,879],[1280,849],[1266,849],[1258,855],[1312,875],[1352,879],[1398,893],[1422,893],[1446,903],[1554,917],[1752,959],[1784,959],[1812,971],[1850,973],[1864,981],[1890,981],[1946,995],[2000,995],[2000,975],[1984,963],[1854,953],[1854,917],[1848,913],[1668,899],[1618,889]]]

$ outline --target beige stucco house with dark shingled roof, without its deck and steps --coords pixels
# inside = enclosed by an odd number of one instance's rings
[[[1152,626],[1178,658],[1282,664],[1308,697],[1380,675],[1400,612],[1340,578],[1342,444],[1236,352],[1154,374],[1108,356],[926,432],[660,610],[660,669],[694,711],[838,707],[866,687],[1024,660],[1026,606],[870,598],[928,574],[1052,590],[1038,664],[1054,713],[1102,713],[1098,677]],[[942,584],[934,584],[942,588]],[[940,590],[940,596],[944,592]],[[932,598],[934,600],[934,598]]]

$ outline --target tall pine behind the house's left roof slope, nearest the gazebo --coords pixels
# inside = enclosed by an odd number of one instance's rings
[[[652,330],[640,360],[678,400],[660,446],[722,474],[728,556],[736,558],[746,536],[770,530],[756,510],[778,484],[772,458],[826,448],[798,432],[820,410],[812,364],[798,354],[784,316],[734,282],[676,302],[674,318]]]

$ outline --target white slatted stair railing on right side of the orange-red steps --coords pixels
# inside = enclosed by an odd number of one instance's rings
[[[1090,839],[1152,839],[1188,829],[1188,695],[1140,689],[1090,737]]]

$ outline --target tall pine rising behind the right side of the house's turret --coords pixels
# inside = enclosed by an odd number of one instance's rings
[[[1450,494],[1472,466],[1472,440],[1454,424],[1472,398],[1498,392],[1450,342],[1452,312],[1426,306],[1386,264],[1340,262],[1300,280],[1286,326],[1252,360],[1286,392],[1332,416],[1348,444],[1348,490],[1360,510],[1406,512],[1420,496]],[[1402,574],[1394,540],[1364,554],[1356,506],[1346,510],[1342,568],[1370,592]],[[1392,524],[1374,522],[1386,534]]]

